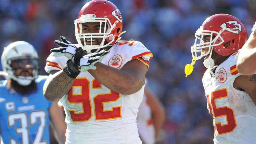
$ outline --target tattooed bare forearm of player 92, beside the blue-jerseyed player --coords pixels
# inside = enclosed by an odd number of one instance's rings
[[[74,78],[70,78],[63,71],[55,73],[49,80],[45,82],[47,87],[47,95],[50,95],[51,100],[60,99],[63,95],[67,94],[73,85]]]

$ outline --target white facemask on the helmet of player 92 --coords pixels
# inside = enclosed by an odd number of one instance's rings
[[[82,33],[83,24],[88,22],[97,22],[99,23],[99,32],[97,33]],[[96,49],[95,52],[98,52],[101,48],[109,46],[114,42],[114,35],[111,34],[111,30],[115,27],[111,25],[109,18],[96,18],[94,14],[81,15],[80,18],[76,19],[75,22],[75,35],[76,40],[87,53],[91,53],[91,50]],[[94,39],[102,38],[102,41],[99,45],[93,44]],[[86,44],[87,42],[87,44]],[[90,42],[90,44],[88,44]]]

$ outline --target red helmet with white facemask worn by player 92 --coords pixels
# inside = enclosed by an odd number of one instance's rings
[[[98,33],[82,33],[82,23],[99,22]],[[78,19],[75,20],[75,36],[78,44],[88,53],[93,49],[100,49],[108,45],[114,45],[122,33],[122,15],[119,9],[107,0],[92,0],[86,3],[79,12]],[[104,31],[101,31],[104,27]],[[91,44],[86,45],[85,39],[91,39]],[[93,38],[103,38],[100,45],[93,45]],[[84,45],[82,44],[82,42]],[[107,41],[107,44],[104,42]],[[97,50],[97,51],[98,51]]]

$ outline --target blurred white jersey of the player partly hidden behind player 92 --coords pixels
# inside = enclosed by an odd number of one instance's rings
[[[155,143],[155,128],[151,119],[151,109],[147,97],[143,96],[137,116],[138,131],[145,144]]]

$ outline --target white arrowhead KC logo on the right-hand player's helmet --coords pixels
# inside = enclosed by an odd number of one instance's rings
[[[227,21],[220,26],[221,28],[238,34],[241,30],[241,25],[237,23],[237,21]]]

